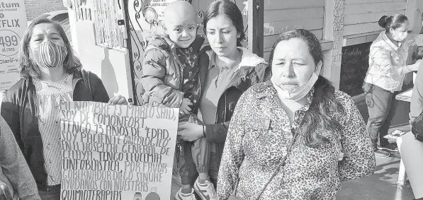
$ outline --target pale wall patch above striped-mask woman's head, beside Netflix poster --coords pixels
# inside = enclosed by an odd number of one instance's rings
[[[28,20],[32,20],[43,13],[66,9],[62,0],[24,0],[24,4]]]

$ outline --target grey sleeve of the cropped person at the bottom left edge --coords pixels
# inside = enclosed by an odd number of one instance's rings
[[[4,175],[4,177],[3,177]],[[9,125],[0,116],[0,182],[6,183],[13,199],[38,200],[37,184]],[[1,194],[0,194],[1,196]],[[0,197],[1,199],[1,197]],[[6,199],[9,200],[9,199]]]

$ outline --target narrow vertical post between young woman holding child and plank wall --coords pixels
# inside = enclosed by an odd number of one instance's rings
[[[248,0],[248,49],[263,57],[264,0]]]

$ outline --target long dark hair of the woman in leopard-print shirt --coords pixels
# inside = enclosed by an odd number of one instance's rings
[[[319,40],[310,31],[304,29],[288,30],[279,35],[271,49],[270,62],[273,61],[273,54],[279,42],[292,38],[300,38],[307,43],[308,50],[316,65],[320,61],[323,62],[322,47]],[[319,76],[314,88],[310,109],[305,112],[303,122],[298,128],[300,135],[304,135],[305,144],[311,148],[317,148],[322,143],[329,141],[327,137],[320,134],[323,130],[330,131],[332,136],[337,136],[336,133],[340,130],[340,124],[330,116],[333,112],[343,112],[341,103],[334,97],[335,88],[326,78]]]

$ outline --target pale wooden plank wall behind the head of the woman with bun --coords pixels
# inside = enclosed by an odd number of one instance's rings
[[[344,35],[380,32],[380,17],[405,14],[406,6],[406,0],[345,0]]]

